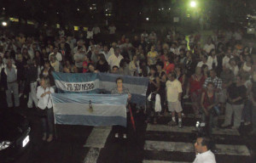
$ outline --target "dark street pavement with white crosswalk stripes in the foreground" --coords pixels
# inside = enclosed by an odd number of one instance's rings
[[[14,163],[183,163],[195,159],[198,119],[189,103],[183,107],[183,128],[167,126],[170,115],[160,116],[157,125],[145,124],[145,116],[140,112],[135,114],[137,130],[131,128],[127,139],[114,138],[112,126],[56,125],[56,138],[51,143],[42,141],[35,109],[21,104],[15,110],[26,115],[31,123],[31,144]],[[219,123],[222,121],[221,116]],[[247,135],[250,127],[213,130],[218,163],[256,162],[255,137]]]

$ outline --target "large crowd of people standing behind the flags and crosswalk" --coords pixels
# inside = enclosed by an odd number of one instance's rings
[[[185,36],[174,28],[166,34],[143,31],[121,37],[114,25],[108,30],[106,38],[99,37],[97,25],[77,35],[64,30],[40,31],[38,37],[0,31],[1,88],[8,107],[19,107],[22,96],[28,108],[38,106],[38,81],[48,77],[54,86],[53,71],[113,73],[148,77],[147,123],[156,124],[159,115],[171,112],[168,125],[183,127],[183,100],[190,98],[195,117],[207,121],[209,134],[222,114],[222,127],[253,123],[256,133],[255,42],[244,42],[241,31],[216,31],[201,44],[199,33]]]

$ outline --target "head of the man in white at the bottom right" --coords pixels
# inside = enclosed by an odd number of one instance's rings
[[[201,154],[207,152],[207,150],[211,149],[211,139],[206,137],[196,138],[194,145],[197,153]]]

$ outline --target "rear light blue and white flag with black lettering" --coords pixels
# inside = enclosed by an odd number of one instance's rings
[[[122,76],[108,73],[69,74],[54,72],[55,85],[58,93],[110,93],[116,87],[116,79],[123,78],[124,87],[131,93],[131,103],[146,104],[148,78]]]

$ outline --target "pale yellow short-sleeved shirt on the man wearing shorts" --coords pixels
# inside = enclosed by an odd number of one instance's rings
[[[168,102],[177,102],[178,94],[183,92],[181,83],[175,79],[173,82],[166,82],[166,95]]]

